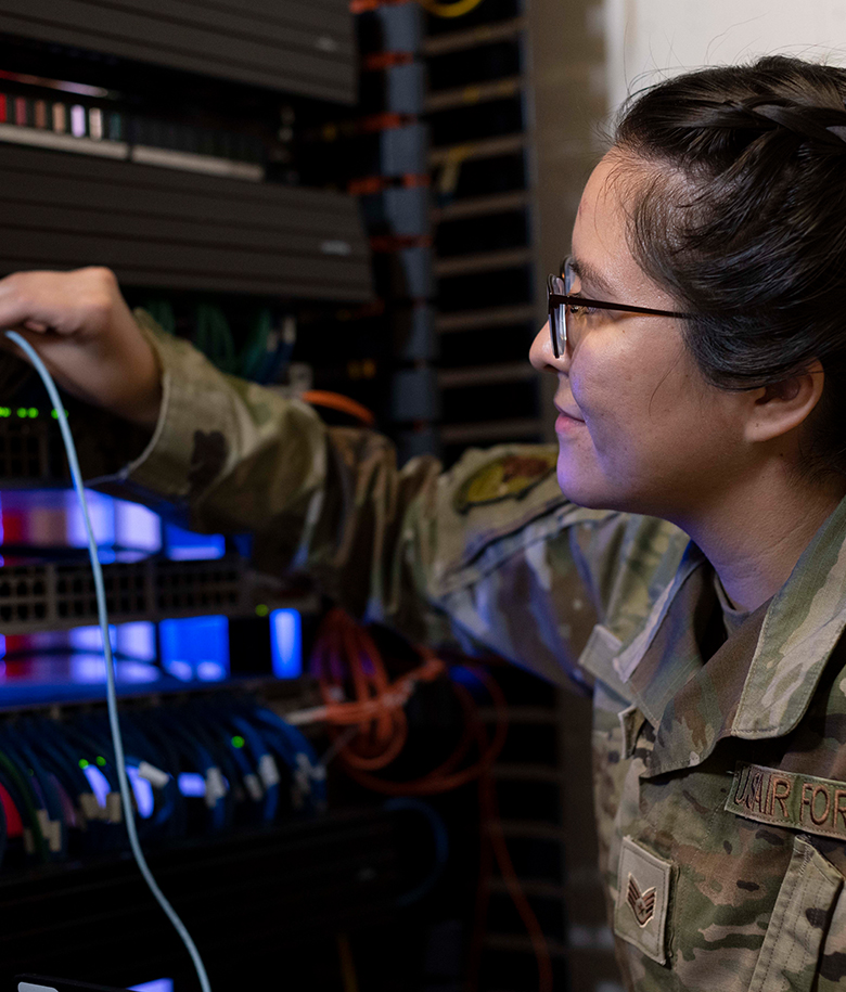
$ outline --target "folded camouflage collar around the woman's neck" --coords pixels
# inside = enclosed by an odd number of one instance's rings
[[[715,608],[710,566],[690,544],[614,662],[657,730],[649,775],[700,764],[726,736],[779,737],[798,724],[846,628],[846,500],[782,589],[705,664],[700,645]]]

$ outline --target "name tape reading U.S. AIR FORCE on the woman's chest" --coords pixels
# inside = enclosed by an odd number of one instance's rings
[[[726,809],[759,823],[846,840],[846,782],[739,761]]]

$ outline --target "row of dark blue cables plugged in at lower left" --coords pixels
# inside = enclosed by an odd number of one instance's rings
[[[131,709],[123,725],[144,840],[273,823],[325,804],[325,773],[309,742],[251,701]],[[105,712],[8,720],[0,725],[0,855],[52,861],[124,847],[117,775]]]

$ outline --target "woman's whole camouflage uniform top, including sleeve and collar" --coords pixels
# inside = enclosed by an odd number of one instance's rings
[[[602,871],[628,987],[846,987],[846,502],[726,637],[713,571],[661,520],[587,511],[555,452],[398,471],[389,443],[227,378],[151,328],[156,433],[123,474],[191,526],[255,532],[359,615],[593,682]]]

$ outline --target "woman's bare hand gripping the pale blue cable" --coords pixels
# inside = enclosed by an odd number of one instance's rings
[[[108,269],[15,272],[0,280],[0,332],[18,331],[73,396],[152,427],[162,402],[155,352]],[[3,346],[21,349],[2,337]]]

